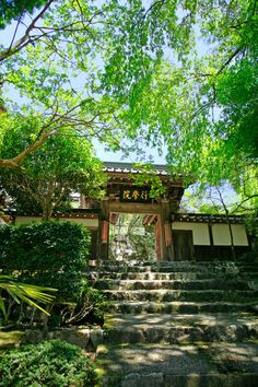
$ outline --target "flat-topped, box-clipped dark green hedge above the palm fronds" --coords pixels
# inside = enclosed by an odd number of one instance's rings
[[[81,270],[89,256],[90,233],[80,224],[51,221],[2,226],[0,265],[21,270]],[[5,242],[5,243],[4,243]],[[2,257],[8,261],[2,261]]]

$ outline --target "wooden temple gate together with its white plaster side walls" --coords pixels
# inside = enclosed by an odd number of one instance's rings
[[[104,200],[87,200],[81,196],[78,208],[52,214],[54,219],[87,227],[92,234],[92,259],[108,259],[109,225],[116,224],[119,214],[125,213],[144,214],[142,224],[154,226],[157,260],[226,260],[231,258],[233,244],[236,257],[250,251],[254,242],[246,233],[242,216],[178,212],[183,179],[171,176],[164,165],[153,165],[154,174],[142,175],[141,183],[145,183],[139,186],[134,176],[141,172],[131,164],[104,164],[108,177]],[[159,177],[165,188],[165,194],[155,199],[150,196],[150,176]],[[15,224],[42,220],[40,213],[9,215]]]

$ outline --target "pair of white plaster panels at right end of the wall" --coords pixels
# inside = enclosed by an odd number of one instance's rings
[[[245,227],[242,224],[232,224],[234,246],[248,246]],[[231,235],[227,224],[212,224],[212,236],[215,246],[230,246]]]

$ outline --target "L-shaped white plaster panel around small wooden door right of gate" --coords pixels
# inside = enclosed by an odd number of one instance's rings
[[[194,245],[210,245],[209,227],[207,223],[174,222],[172,228],[192,231]]]

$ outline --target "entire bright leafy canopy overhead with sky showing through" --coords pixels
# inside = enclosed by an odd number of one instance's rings
[[[9,85],[25,97],[22,108],[4,97],[9,112],[51,122],[37,140],[62,117],[113,150],[128,138],[162,152],[165,141],[187,181],[230,179],[243,191],[256,175],[255,0],[49,1],[24,23],[0,52],[0,77],[3,97]]]

